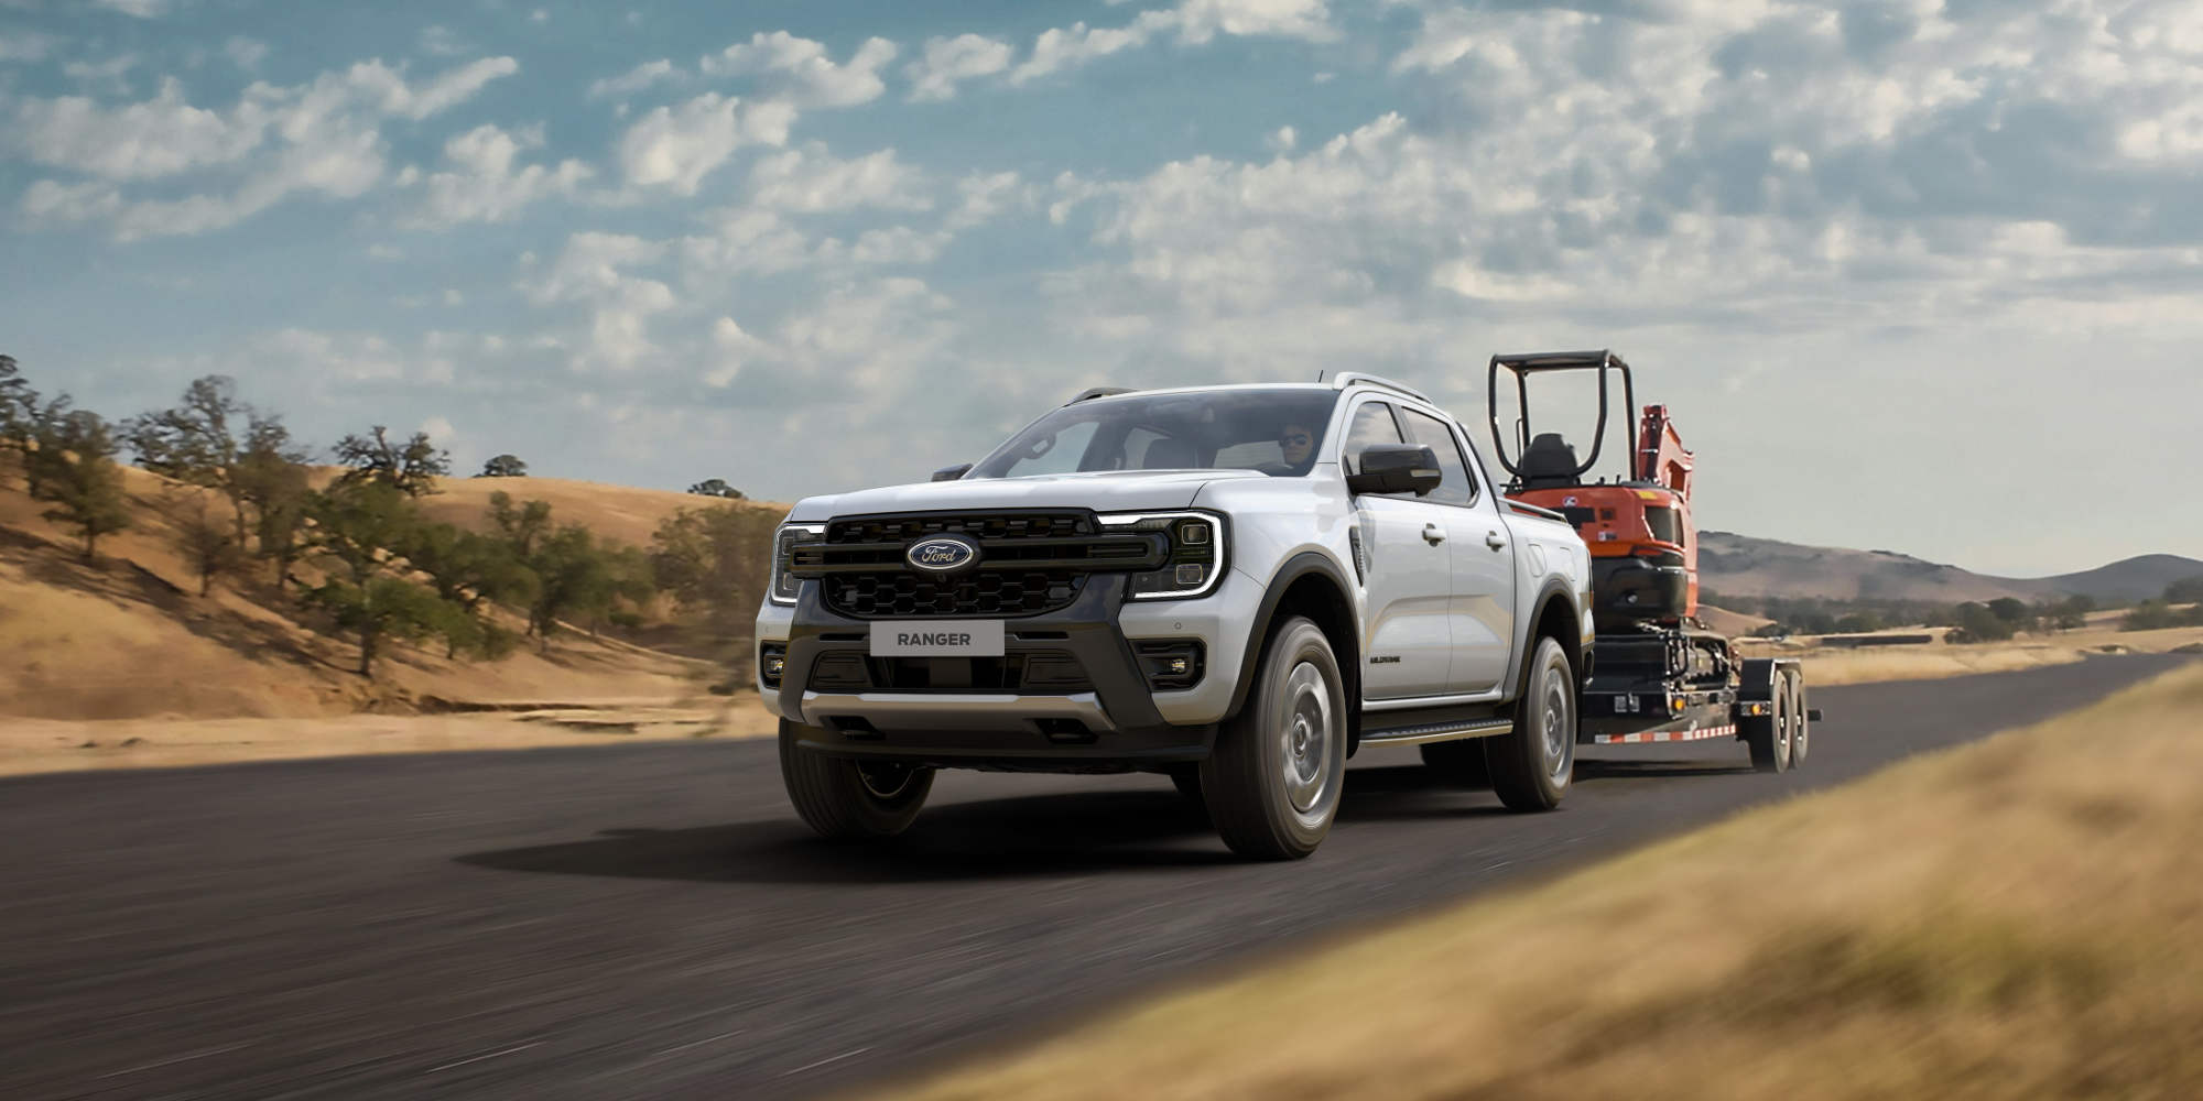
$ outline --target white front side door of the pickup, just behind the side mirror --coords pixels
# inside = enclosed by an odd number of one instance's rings
[[[1406,443],[1392,405],[1364,401],[1346,421],[1339,469],[1375,443]],[[1355,498],[1368,625],[1361,639],[1361,696],[1390,700],[1439,696],[1452,678],[1454,568],[1445,522],[1454,509],[1419,498]]]

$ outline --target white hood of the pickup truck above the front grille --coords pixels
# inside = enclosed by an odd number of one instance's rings
[[[1267,478],[1262,471],[1093,471],[1033,478],[969,478],[859,489],[795,502],[789,520],[822,522],[837,515],[938,513],[963,509],[1093,509],[1139,513],[1185,509],[1201,487],[1223,478]]]

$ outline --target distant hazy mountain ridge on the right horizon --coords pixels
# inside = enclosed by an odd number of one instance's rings
[[[1699,584],[1716,595],[1738,597],[1956,603],[2086,595],[2099,601],[2137,601],[2185,577],[2203,577],[2203,562],[2141,555],[2058,577],[1992,577],[1897,550],[1804,546],[1732,531],[1699,533]]]

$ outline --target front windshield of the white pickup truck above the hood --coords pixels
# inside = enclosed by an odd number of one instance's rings
[[[972,478],[1077,471],[1236,469],[1295,478],[1315,467],[1335,390],[1201,390],[1088,399],[1033,421]]]

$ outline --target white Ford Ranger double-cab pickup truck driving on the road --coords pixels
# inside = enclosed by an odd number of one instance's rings
[[[901,832],[936,768],[1150,771],[1291,859],[1359,746],[1555,806],[1588,586],[1575,528],[1406,385],[1090,390],[932,482],[797,502],[758,691],[828,837]]]

